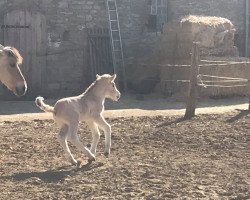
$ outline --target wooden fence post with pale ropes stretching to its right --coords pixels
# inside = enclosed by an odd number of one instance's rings
[[[205,64],[200,64],[201,62]],[[250,73],[244,74],[244,78],[235,76],[220,76],[220,75],[212,75],[209,73],[200,73],[202,68],[214,68],[219,69],[221,67],[235,67],[238,65],[244,66],[250,64],[250,62],[225,62],[225,61],[211,61],[201,60],[200,59],[200,48],[199,43],[194,43],[192,47],[192,56],[191,56],[191,71],[190,71],[190,82],[189,82],[189,90],[188,90],[188,99],[187,99],[187,107],[185,112],[185,118],[189,119],[195,116],[196,102],[198,96],[198,87],[202,87],[204,89],[216,88],[216,89],[242,89],[245,88],[247,92],[247,96],[249,96],[249,106],[250,110]],[[211,71],[211,70],[210,70]],[[246,78],[247,77],[247,78]]]

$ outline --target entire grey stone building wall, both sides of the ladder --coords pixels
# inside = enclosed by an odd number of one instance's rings
[[[188,14],[215,15],[228,18],[236,27],[236,44],[243,54],[243,0],[166,0],[168,21],[178,21]],[[125,63],[146,63],[160,42],[160,31],[148,27],[148,0],[117,0]],[[3,14],[11,9],[30,9],[46,17],[48,95],[77,94],[90,81],[86,59],[88,28],[108,27],[106,0],[1,0],[0,24]],[[0,43],[3,34],[0,31]],[[156,61],[155,61],[156,62]]]

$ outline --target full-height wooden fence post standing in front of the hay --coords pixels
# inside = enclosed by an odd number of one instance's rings
[[[199,59],[200,59],[199,44],[197,42],[194,42],[192,48],[192,56],[191,56],[190,83],[188,90],[186,113],[184,116],[185,119],[190,119],[195,116]]]

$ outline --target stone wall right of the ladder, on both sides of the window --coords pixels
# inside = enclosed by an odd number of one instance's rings
[[[148,0],[117,0],[125,57],[128,60],[148,59],[159,44],[160,32],[148,29]],[[235,45],[244,55],[244,0],[167,0],[169,22],[186,15],[225,17],[236,28]]]

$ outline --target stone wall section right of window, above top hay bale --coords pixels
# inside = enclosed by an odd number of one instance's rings
[[[245,0],[169,0],[168,19],[179,21],[185,15],[225,17],[236,28],[235,43],[240,55],[244,55]]]

